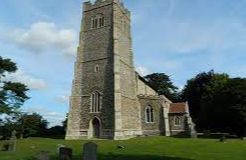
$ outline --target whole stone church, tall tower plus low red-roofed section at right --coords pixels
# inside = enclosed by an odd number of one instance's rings
[[[134,68],[131,16],[120,0],[83,4],[66,139],[190,134],[187,103],[172,103]]]

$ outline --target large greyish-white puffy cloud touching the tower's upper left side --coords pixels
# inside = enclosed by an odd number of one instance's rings
[[[33,53],[54,49],[65,55],[76,54],[76,32],[59,29],[51,22],[36,22],[28,29],[15,29],[8,33],[8,39],[19,48]]]

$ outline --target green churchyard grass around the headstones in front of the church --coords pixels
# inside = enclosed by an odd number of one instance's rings
[[[56,147],[64,144],[73,149],[73,160],[82,159],[82,145],[88,141],[28,138],[17,141],[16,152],[0,151],[0,160],[32,160],[40,151],[49,151],[58,159]],[[100,160],[245,160],[246,141],[230,139],[189,139],[143,137],[127,141],[95,140]],[[0,141],[0,144],[3,141]],[[117,146],[124,146],[119,149]]]

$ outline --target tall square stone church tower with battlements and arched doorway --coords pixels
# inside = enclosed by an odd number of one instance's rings
[[[66,139],[140,135],[130,12],[120,0],[83,6]]]

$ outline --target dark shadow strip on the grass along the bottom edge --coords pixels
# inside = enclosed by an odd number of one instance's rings
[[[57,160],[57,156],[51,157],[51,160]],[[81,160],[82,155],[73,156],[73,160]],[[98,160],[193,160],[181,157],[169,157],[169,156],[158,156],[158,155],[125,155],[125,154],[108,154],[99,155]]]

